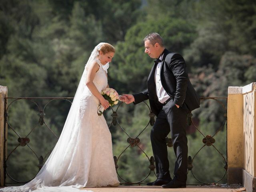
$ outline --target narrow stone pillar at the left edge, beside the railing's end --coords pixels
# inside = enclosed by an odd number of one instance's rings
[[[7,87],[0,86],[0,186],[4,186],[4,98],[7,97]]]

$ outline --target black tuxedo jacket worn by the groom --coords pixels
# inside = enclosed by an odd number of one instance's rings
[[[200,106],[200,98],[196,94],[186,72],[186,63],[178,53],[164,49],[164,56],[160,67],[160,78],[164,90],[181,108],[192,111]],[[154,74],[157,64],[154,64],[148,76],[148,88],[143,92],[134,94],[134,104],[149,100],[150,108],[156,116],[159,114],[162,104],[156,95],[156,83]]]

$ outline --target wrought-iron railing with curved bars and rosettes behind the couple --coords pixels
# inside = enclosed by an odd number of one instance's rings
[[[8,163],[10,161],[10,157],[12,156],[12,154],[14,152],[16,152],[18,150],[18,148],[20,147],[26,147],[34,156],[35,158],[38,160],[38,171],[42,168],[44,162],[46,161],[48,155],[50,154],[50,152],[52,151],[52,149],[54,148],[55,144],[53,146],[50,146],[50,150],[48,150],[46,152],[45,155],[42,155],[42,154],[38,154],[38,152],[36,152],[32,146],[30,146],[30,143],[31,143],[31,140],[30,140],[30,136],[31,134],[33,134],[33,132],[36,130],[36,129],[40,129],[40,126],[45,126],[48,131],[50,132],[50,134],[52,134],[55,138],[56,138],[56,142],[58,140],[58,136],[57,134],[54,132],[54,130],[52,130],[51,126],[46,122],[45,120],[45,116],[46,116],[46,107],[49,106],[49,104],[54,101],[54,100],[64,100],[64,101],[68,101],[70,104],[72,103],[71,100],[73,98],[71,97],[62,97],[62,98],[52,98],[52,97],[30,97],[30,98],[21,98],[21,97],[8,97],[8,98],[5,98],[5,112],[4,112],[4,118],[5,118],[5,122],[7,124],[8,127],[4,127],[4,131],[6,132],[8,130],[8,133],[10,132],[12,134],[12,138],[14,138],[14,136],[16,137],[18,143],[16,142],[13,142],[13,143],[10,143],[10,141],[8,141],[8,138],[4,138],[5,139],[5,142],[4,142],[4,148],[7,148],[7,142],[8,142],[8,146],[12,146],[11,149],[9,149],[10,152],[8,152],[7,154],[4,154],[4,175],[5,175],[5,179],[4,179],[4,182],[5,184],[20,184],[20,183],[26,183],[30,180],[32,180],[34,177],[30,178],[29,180],[26,180],[26,181],[21,181],[21,180],[18,180],[17,178],[14,178],[13,175],[11,175],[8,171]],[[202,135],[202,146],[200,147],[200,149],[194,154],[194,156],[188,156],[188,174],[189,172],[191,172],[192,176],[198,181],[200,182],[200,184],[216,184],[217,182],[219,182],[220,180],[222,180],[224,178],[224,176],[226,175],[226,171],[227,171],[227,162],[226,162],[226,154],[222,154],[220,152],[220,150],[214,145],[214,143],[216,142],[216,135],[220,132],[220,130],[226,128],[226,107],[225,107],[225,104],[224,102],[221,102],[220,100],[224,99],[224,101],[226,102],[227,98],[226,97],[222,97],[222,98],[217,98],[217,97],[214,97],[214,98],[201,98],[201,102],[204,102],[205,100],[209,101],[209,100],[212,100],[212,101],[215,101],[217,102],[217,104],[220,104],[220,106],[222,107],[222,109],[224,110],[223,112],[223,116],[224,116],[224,121],[221,123],[221,126],[218,127],[218,128],[215,128],[215,132],[214,134],[210,135],[210,134],[206,134],[206,133],[203,133],[202,130],[200,130],[200,128],[198,127],[198,125],[196,123],[194,123],[193,119],[191,118],[191,116],[188,116],[188,123],[189,124],[192,124],[191,126],[193,126],[196,131],[198,133],[200,133],[200,135]],[[22,132],[23,135],[25,136],[22,136],[22,134],[19,133],[19,129],[18,128],[15,128],[14,126],[12,126],[12,124],[10,123],[9,119],[8,119],[8,111],[11,109],[11,106],[13,106],[13,104],[15,102],[17,102],[18,100],[26,100],[26,101],[30,101],[31,104],[34,104],[34,106],[36,106],[36,111],[38,113],[38,116],[39,116],[39,119],[38,119],[38,123],[34,125],[34,127],[30,128],[30,129],[27,129],[25,131],[28,131],[26,132],[26,134],[24,132]],[[47,100],[47,102],[45,102],[44,104],[41,102],[36,102],[37,100]],[[8,101],[8,102],[7,102]],[[7,105],[7,103],[10,103]],[[130,134],[128,134],[125,129],[122,127],[122,122],[120,122],[120,117],[118,117],[118,110],[122,107],[122,103],[119,103],[116,107],[116,110],[114,110],[114,108],[110,107],[110,109],[112,110],[112,114],[111,114],[111,118],[112,118],[112,121],[111,123],[109,124],[109,127],[110,126],[115,126],[116,128],[120,129],[124,134],[126,134],[126,136],[128,137],[126,141],[124,142],[127,142],[127,146],[124,148],[124,150],[122,150],[122,152],[117,155],[117,156],[114,156],[114,162],[115,162],[115,165],[116,165],[116,172],[119,176],[119,178],[123,181],[121,181],[121,183],[124,183],[124,184],[144,184],[143,181],[146,180],[146,178],[148,178],[150,176],[150,174],[155,174],[155,165],[154,165],[154,157],[151,156],[149,157],[145,150],[143,150],[141,147],[140,147],[140,136],[141,134],[146,130],[146,129],[151,129],[150,126],[153,126],[154,125],[154,114],[150,111],[150,107],[148,106],[148,104],[146,102],[143,102],[143,104],[146,106],[148,112],[149,112],[149,119],[148,119],[148,123],[144,126],[144,128],[142,128],[142,130],[135,136],[135,137],[132,137],[130,136]],[[110,117],[108,117],[110,118]],[[6,125],[5,124],[5,125]],[[149,137],[148,137],[149,138]],[[39,138],[38,138],[39,139]],[[12,139],[14,140],[14,139]],[[171,138],[166,138],[166,145],[168,147],[172,147],[172,139]],[[198,156],[198,154],[200,154],[200,152],[202,151],[203,148],[206,148],[207,147],[213,147],[214,150],[216,150],[216,152],[218,152],[218,154],[220,155],[220,158],[224,161],[224,169],[225,171],[223,172],[223,176],[218,178],[216,181],[212,181],[212,182],[206,182],[206,181],[203,181],[203,180],[200,180],[199,178],[197,178],[196,174],[194,174],[194,170],[193,170],[193,161],[195,160],[195,158]],[[148,170],[148,174],[146,174],[144,176],[144,178],[141,178],[139,181],[128,181],[124,175],[120,174],[118,172],[118,164],[120,162],[120,158],[122,157],[122,155],[124,154],[124,152],[129,148],[137,148],[138,150],[140,150],[147,158],[148,160],[148,165],[145,165],[145,166],[148,166],[149,170]],[[225,149],[226,149],[226,146],[224,146]],[[4,150],[5,151],[5,150]],[[226,152],[226,150],[225,150]],[[208,157],[208,158],[211,158],[211,157]],[[207,160],[207,159],[206,159]],[[19,170],[17,170],[19,171]],[[24,173],[26,174],[26,173]],[[207,174],[207,170],[206,170],[206,174]],[[34,175],[36,176],[36,174]],[[8,182],[6,182],[6,178],[8,177]]]

